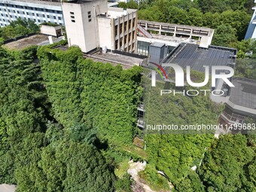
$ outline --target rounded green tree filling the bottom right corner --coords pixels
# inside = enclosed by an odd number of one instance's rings
[[[207,191],[254,191],[255,151],[242,135],[225,135],[207,151],[200,177]]]

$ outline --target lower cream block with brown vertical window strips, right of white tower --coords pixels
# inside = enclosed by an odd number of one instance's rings
[[[136,53],[136,10],[108,8],[108,15],[98,17],[98,21],[100,47]]]

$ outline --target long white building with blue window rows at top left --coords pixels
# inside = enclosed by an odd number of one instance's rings
[[[64,25],[59,0],[0,0],[0,15],[0,26],[8,26],[17,18],[33,20],[36,24]]]

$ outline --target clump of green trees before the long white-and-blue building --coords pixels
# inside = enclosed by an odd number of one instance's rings
[[[18,18],[12,21],[9,26],[0,28],[0,45],[1,42],[9,38],[17,38],[32,32],[38,32],[39,27],[32,20],[22,20]]]

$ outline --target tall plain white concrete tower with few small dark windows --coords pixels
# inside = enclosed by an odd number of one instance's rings
[[[69,46],[77,45],[85,53],[99,47],[96,15],[108,11],[107,2],[95,1],[81,4],[64,2],[62,10]]]

